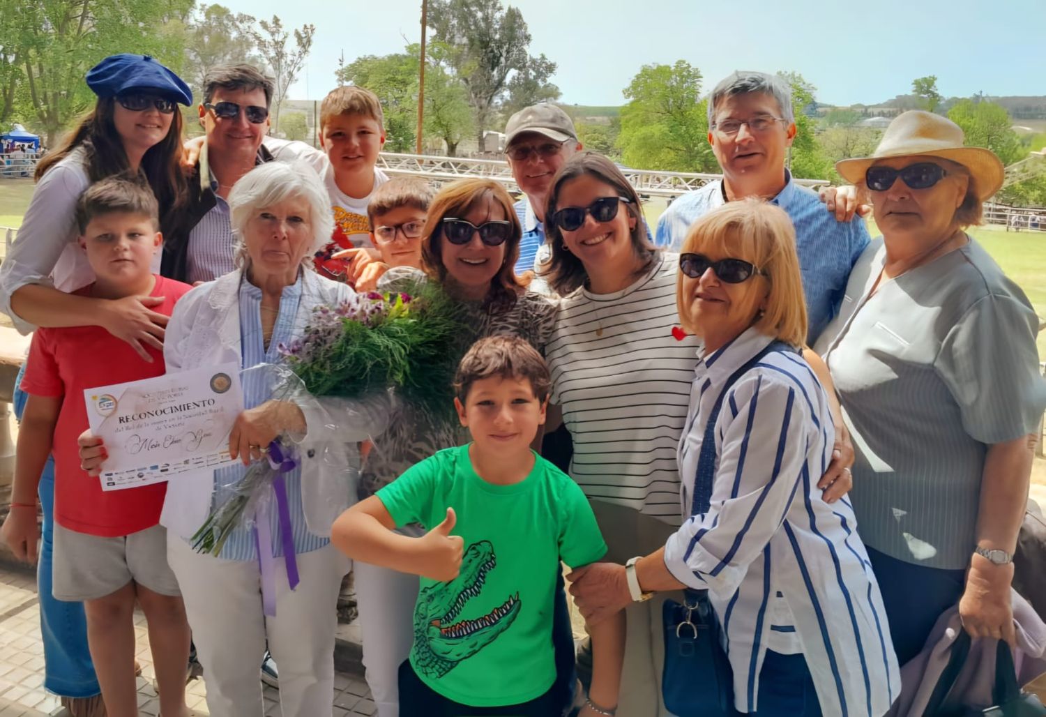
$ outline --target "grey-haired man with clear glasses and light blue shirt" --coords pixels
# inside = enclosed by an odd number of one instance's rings
[[[777,204],[795,226],[806,295],[808,342],[813,344],[839,313],[846,279],[868,245],[864,221],[836,221],[813,191],[786,169],[795,138],[792,91],[787,81],[763,72],[734,72],[708,98],[708,141],[723,179],[683,195],[661,216],[656,244],[678,251],[698,218],[726,202],[761,197]]]

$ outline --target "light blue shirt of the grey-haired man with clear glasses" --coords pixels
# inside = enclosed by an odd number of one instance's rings
[[[870,239],[863,219],[836,221],[817,194],[792,181],[788,170],[784,179],[784,188],[771,203],[784,209],[795,226],[796,252],[806,295],[806,342],[813,345],[839,313],[850,269]],[[655,243],[669,251],[680,251],[690,225],[725,202],[722,180],[683,195],[661,215]]]

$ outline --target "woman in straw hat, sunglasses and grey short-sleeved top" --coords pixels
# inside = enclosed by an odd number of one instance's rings
[[[1038,318],[965,227],[1002,184],[991,151],[905,112],[836,167],[883,232],[817,342],[854,439],[852,502],[902,664],[956,602],[973,636],[1013,643],[1011,558],[1028,434],[1046,407]]]

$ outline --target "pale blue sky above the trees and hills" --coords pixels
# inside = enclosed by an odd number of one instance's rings
[[[221,1],[221,0],[219,0]],[[319,99],[334,70],[401,51],[419,32],[420,0],[226,0],[285,25],[316,25],[305,71],[290,92]],[[686,60],[705,90],[734,69],[795,70],[832,105],[876,103],[935,74],[945,96],[1046,94],[1046,0],[517,0],[531,52],[559,64],[562,102],[621,105],[644,64]],[[332,10],[337,7],[337,10]]]

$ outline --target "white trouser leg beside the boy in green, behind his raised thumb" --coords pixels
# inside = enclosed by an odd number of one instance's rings
[[[370,696],[378,717],[400,717],[399,671],[414,640],[418,579],[360,561],[353,569]]]

